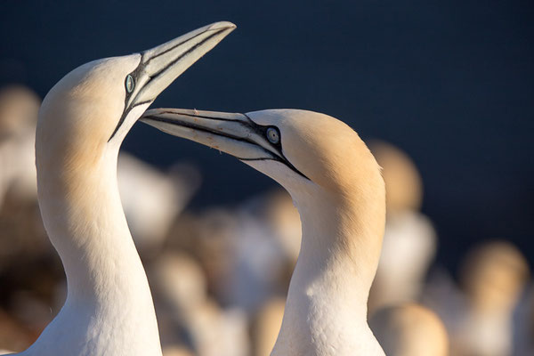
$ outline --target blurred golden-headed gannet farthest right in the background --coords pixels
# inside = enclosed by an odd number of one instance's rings
[[[455,355],[514,352],[514,309],[529,275],[525,257],[506,240],[487,242],[465,256],[460,276],[465,304],[457,308],[450,332]]]

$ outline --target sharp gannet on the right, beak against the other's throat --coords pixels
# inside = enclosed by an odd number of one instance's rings
[[[294,199],[303,240],[272,355],[384,355],[367,323],[384,180],[358,134],[333,117],[295,109],[153,109],[142,121],[230,153]]]

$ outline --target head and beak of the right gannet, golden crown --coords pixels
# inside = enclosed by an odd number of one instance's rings
[[[384,190],[379,166],[365,143],[351,127],[328,115],[298,109],[247,114],[152,109],[141,120],[239,158],[279,182],[293,198],[318,191],[361,197],[373,184]]]

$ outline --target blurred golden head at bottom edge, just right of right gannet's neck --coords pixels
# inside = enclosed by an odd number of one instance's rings
[[[440,318],[417,303],[373,314],[369,325],[388,356],[448,356],[449,336]]]

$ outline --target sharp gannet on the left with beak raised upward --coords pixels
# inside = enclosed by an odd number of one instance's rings
[[[161,355],[150,287],[117,188],[125,135],[167,85],[235,25],[89,62],[46,95],[36,130],[39,206],[67,275],[67,300],[20,355]]]

